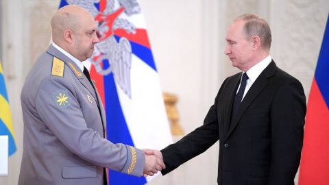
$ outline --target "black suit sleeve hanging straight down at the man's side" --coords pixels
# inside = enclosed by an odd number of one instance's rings
[[[280,87],[270,114],[271,167],[268,184],[294,184],[300,164],[306,114],[304,90],[297,79]]]

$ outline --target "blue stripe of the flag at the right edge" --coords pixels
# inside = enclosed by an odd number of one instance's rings
[[[329,14],[328,14],[329,18]],[[327,19],[329,20],[329,19]],[[324,39],[319,53],[319,60],[317,61],[317,69],[315,70],[315,80],[321,91],[326,105],[329,108],[329,21],[327,21],[326,29],[324,31]]]

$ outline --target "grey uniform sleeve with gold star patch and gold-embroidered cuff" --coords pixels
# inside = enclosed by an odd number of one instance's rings
[[[88,128],[79,100],[67,81],[63,77],[47,77],[38,89],[36,110],[49,132],[84,160],[122,173],[143,175],[143,151],[128,145],[113,144]],[[58,92],[62,92],[60,97]]]

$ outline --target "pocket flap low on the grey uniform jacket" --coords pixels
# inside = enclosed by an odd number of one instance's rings
[[[71,165],[62,167],[62,177],[64,179],[95,178],[97,167],[95,165]]]

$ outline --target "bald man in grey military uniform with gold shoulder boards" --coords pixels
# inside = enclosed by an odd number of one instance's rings
[[[24,121],[19,184],[107,184],[105,168],[154,175],[162,160],[105,138],[106,116],[82,61],[99,42],[93,16],[66,5],[51,20],[53,43],[21,92]]]

